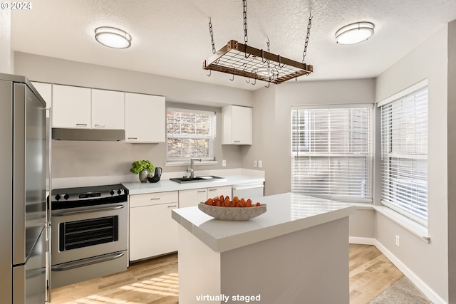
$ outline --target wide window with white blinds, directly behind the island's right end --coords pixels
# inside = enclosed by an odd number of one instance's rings
[[[372,201],[373,105],[291,108],[291,191]]]

